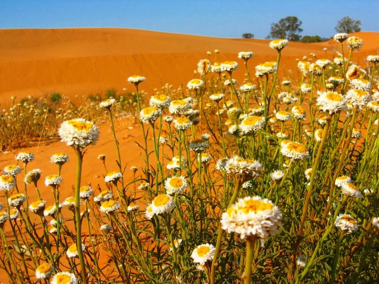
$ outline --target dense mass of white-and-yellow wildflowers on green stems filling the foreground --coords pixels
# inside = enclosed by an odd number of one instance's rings
[[[379,281],[379,59],[368,56],[365,71],[353,56],[362,40],[334,39],[347,58],[299,61],[290,80],[279,81],[283,39],[255,77],[253,53],[238,54],[240,85],[232,60],[202,59],[187,88],[150,97],[140,90],[146,78],[130,76],[143,141],[141,163],[129,168],[113,124],[125,98],[91,99],[89,115],[109,117],[117,156],[99,154],[96,189],[80,176],[98,129],[66,113],[59,135],[77,156],[73,196],[62,197],[65,153],[43,173],[20,152],[0,176],[0,267],[10,282]],[[53,204],[40,194],[41,174]]]

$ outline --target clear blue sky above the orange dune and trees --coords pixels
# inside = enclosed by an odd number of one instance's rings
[[[0,28],[127,27],[170,33],[263,39],[272,22],[297,16],[302,36],[331,37],[339,19],[379,31],[377,0],[1,0]]]

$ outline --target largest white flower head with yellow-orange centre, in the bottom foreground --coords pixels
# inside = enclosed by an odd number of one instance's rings
[[[278,231],[282,215],[270,200],[259,196],[240,198],[221,215],[221,227],[241,239],[255,236],[260,239]]]

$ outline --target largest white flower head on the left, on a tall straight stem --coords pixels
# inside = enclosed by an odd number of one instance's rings
[[[99,139],[99,129],[91,121],[83,118],[62,122],[58,134],[62,142],[82,151],[86,146],[95,145]]]

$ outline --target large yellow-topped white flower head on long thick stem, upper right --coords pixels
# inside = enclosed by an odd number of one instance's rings
[[[334,114],[347,109],[347,101],[342,94],[337,92],[318,92],[316,105],[320,110]]]

